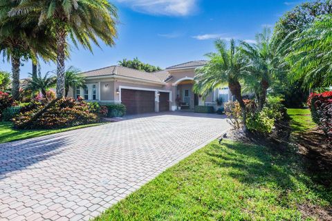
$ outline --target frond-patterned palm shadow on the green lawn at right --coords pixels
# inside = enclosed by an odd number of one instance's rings
[[[258,189],[279,190],[277,201],[282,206],[288,206],[292,198],[302,200],[302,204],[309,199],[313,202],[323,199],[329,202],[324,211],[331,212],[332,190],[324,189],[304,175],[298,155],[239,142],[223,142],[223,146],[226,148],[221,150],[221,146],[212,144],[208,155],[214,164],[230,169],[228,174],[239,182]],[[329,215],[332,218],[332,214]]]

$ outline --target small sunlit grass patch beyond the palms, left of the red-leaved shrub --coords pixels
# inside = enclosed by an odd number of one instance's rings
[[[315,128],[316,124],[311,119],[309,109],[287,109],[288,115],[291,117],[290,126],[295,132],[304,132]]]

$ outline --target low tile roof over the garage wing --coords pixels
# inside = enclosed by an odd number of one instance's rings
[[[144,71],[126,68],[123,66],[109,66],[106,68],[100,68],[96,70],[86,71],[81,73],[82,77],[100,77],[100,76],[107,76],[107,75],[118,75],[123,77],[131,77],[133,79],[143,79],[147,81],[154,81],[158,83],[162,83],[163,80],[157,77],[152,73],[147,73]]]

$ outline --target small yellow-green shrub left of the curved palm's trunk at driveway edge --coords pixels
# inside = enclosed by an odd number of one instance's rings
[[[234,130],[241,128],[241,107],[239,102],[227,102],[224,104],[225,114],[228,117],[228,123],[232,125]]]

